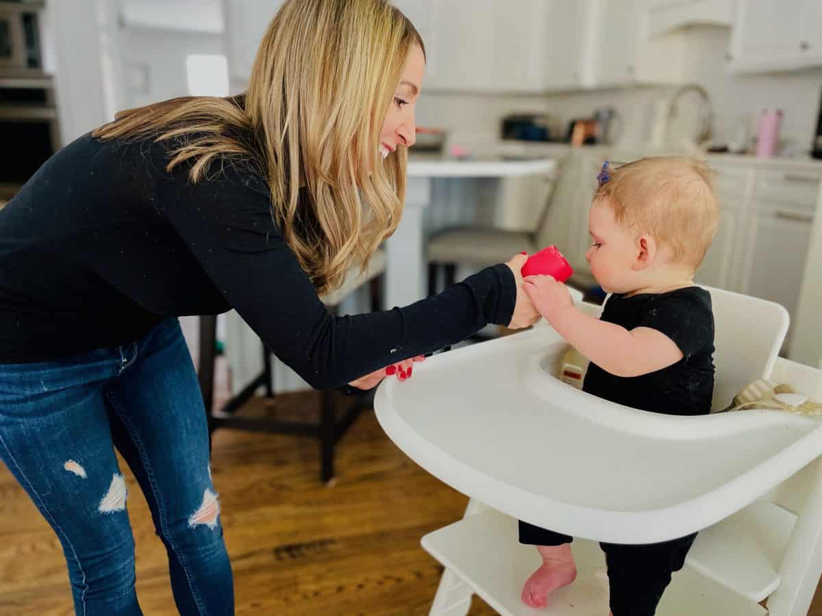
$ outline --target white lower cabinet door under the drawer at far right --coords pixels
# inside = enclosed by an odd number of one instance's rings
[[[762,208],[750,216],[740,291],[776,301],[797,314],[812,214]]]

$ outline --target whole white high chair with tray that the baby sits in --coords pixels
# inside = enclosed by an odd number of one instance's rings
[[[782,306],[709,292],[714,410],[763,377],[822,396],[820,370],[778,358]],[[606,616],[598,541],[653,543],[694,531],[658,616],[806,614],[822,572],[822,419],[622,407],[556,378],[565,349],[553,329],[535,328],[436,356],[413,382],[378,390],[377,418],[390,438],[470,497],[463,520],[423,537],[446,568],[430,614],[467,614],[477,594],[500,614]],[[544,610],[520,601],[540,560],[518,543],[517,518],[577,538],[579,575]]]

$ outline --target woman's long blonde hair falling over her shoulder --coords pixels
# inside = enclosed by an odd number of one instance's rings
[[[413,45],[423,39],[386,0],[287,0],[258,48],[247,91],[119,113],[99,139],[177,140],[168,170],[251,160],[272,214],[318,292],[364,268],[402,214],[407,152],[379,138]],[[307,198],[300,198],[304,190]]]

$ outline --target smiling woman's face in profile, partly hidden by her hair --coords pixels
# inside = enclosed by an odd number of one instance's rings
[[[394,100],[391,101],[386,119],[382,122],[379,148],[383,159],[395,152],[400,145],[409,148],[417,140],[414,112],[419,93],[423,89],[424,71],[423,50],[419,45],[413,45],[405,61],[403,75],[394,91]]]

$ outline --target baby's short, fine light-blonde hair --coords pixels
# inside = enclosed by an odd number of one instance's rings
[[[617,223],[650,233],[673,259],[698,269],[719,221],[715,172],[689,156],[640,159],[609,170],[593,200],[607,199]]]

